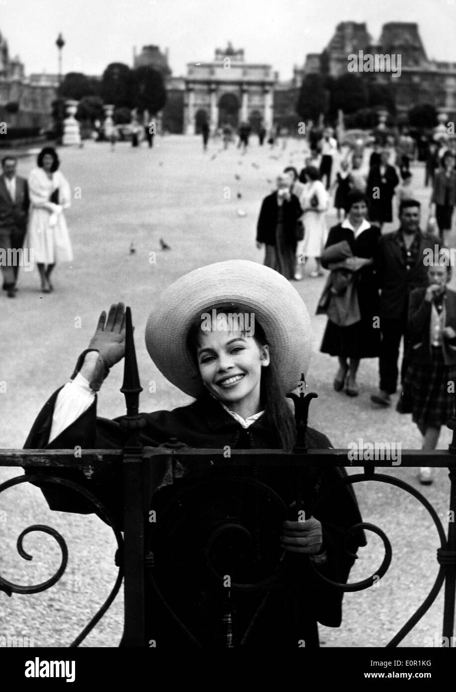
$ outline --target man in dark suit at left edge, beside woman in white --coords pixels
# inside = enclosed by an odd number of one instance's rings
[[[15,156],[4,156],[0,175],[0,251],[3,290],[8,298],[16,295],[19,253],[26,236],[28,219],[28,184],[16,175]],[[9,251],[9,253],[8,253]]]

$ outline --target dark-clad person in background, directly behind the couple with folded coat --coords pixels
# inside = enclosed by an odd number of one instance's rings
[[[388,164],[388,158],[388,150],[383,149],[379,165],[370,168],[365,193],[369,200],[369,220],[380,228],[392,221],[392,197],[399,185],[396,169]]]

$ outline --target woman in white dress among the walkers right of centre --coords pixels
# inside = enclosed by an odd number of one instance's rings
[[[299,203],[303,209],[304,239],[298,242],[296,257],[298,268],[296,269],[296,280],[302,278],[301,267],[308,257],[313,257],[316,262],[316,270],[312,271],[311,276],[321,276],[321,253],[327,240],[326,215],[328,206],[328,195],[325,185],[320,180],[319,170],[314,166],[305,168],[307,183],[299,198]]]

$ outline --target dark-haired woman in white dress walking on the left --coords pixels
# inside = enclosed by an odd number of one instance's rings
[[[64,217],[71,201],[70,185],[58,170],[59,157],[53,147],[38,154],[37,167],[28,176],[30,216],[27,245],[37,263],[41,290],[53,291],[50,275],[57,261],[71,262],[73,251]]]

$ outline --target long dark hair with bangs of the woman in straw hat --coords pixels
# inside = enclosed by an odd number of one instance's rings
[[[210,313],[212,309],[215,309],[216,314],[227,315],[228,312],[243,313],[245,310],[238,308],[237,306],[218,306],[209,307],[205,312]],[[245,332],[247,333],[247,332]],[[187,338],[187,345],[193,355],[193,360],[198,367],[198,358],[196,355],[196,349],[200,343],[201,336],[201,318],[198,316],[193,325],[189,329],[189,335]],[[267,336],[263,327],[258,324],[255,320],[255,334],[253,338],[256,340],[258,346],[269,346]],[[285,390],[283,382],[281,381],[281,376],[278,373],[274,356],[276,354],[270,354],[270,362],[267,367],[261,369],[261,382],[260,382],[260,401],[261,406],[265,410],[264,421],[269,428],[272,430],[280,444],[280,447],[287,452],[291,452],[296,444],[296,425],[294,423],[294,415],[292,410],[287,404],[287,399],[285,397]]]

